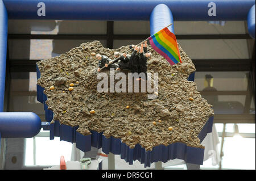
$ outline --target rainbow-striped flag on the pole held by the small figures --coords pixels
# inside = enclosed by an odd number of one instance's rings
[[[167,27],[150,36],[149,41],[151,47],[166,58],[171,65],[181,63],[176,36]]]

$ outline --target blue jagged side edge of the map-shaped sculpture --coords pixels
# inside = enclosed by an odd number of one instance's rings
[[[38,65],[36,65],[36,75],[37,79],[40,78],[40,71]],[[189,75],[188,81],[194,81],[195,72]],[[38,101],[44,104],[44,110],[46,112],[46,120],[51,121],[53,119],[53,112],[48,110],[46,105],[47,96],[43,93],[43,87],[37,85],[37,97]],[[207,123],[204,125],[203,129],[199,134],[200,142],[202,142],[207,136],[207,133],[212,132],[213,116],[209,118]],[[69,125],[60,124],[59,121],[54,121],[54,123],[49,125],[50,140],[54,137],[60,137],[60,140],[68,142],[76,142],[76,147],[81,151],[90,151],[91,146],[98,149],[102,148],[105,154],[110,152],[113,154],[119,154],[121,159],[125,159],[129,165],[133,164],[133,161],[138,160],[144,167],[150,167],[153,162],[167,162],[170,159],[183,159],[187,163],[193,163],[197,165],[203,165],[204,161],[204,149],[194,148],[187,146],[183,142],[176,142],[168,146],[159,145],[155,146],[152,150],[146,151],[141,145],[137,144],[134,148],[129,148],[125,143],[121,141],[120,138],[106,138],[103,132],[98,133],[96,131],[91,131],[92,134],[84,136],[77,132],[78,127],[71,127]]]

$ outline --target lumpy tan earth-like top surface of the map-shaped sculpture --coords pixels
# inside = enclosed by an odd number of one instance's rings
[[[38,85],[45,89],[46,103],[55,114],[53,121],[79,125],[77,131],[84,135],[92,130],[104,132],[106,137],[121,138],[130,148],[140,144],[146,150],[151,150],[154,146],[167,146],[174,142],[203,148],[197,136],[209,116],[213,115],[213,110],[201,98],[195,82],[187,81],[195,66],[181,47],[183,63],[174,66],[151,47],[148,48],[152,53],[147,65],[148,72],[158,73],[158,98],[147,99],[147,92],[97,92],[100,82],[96,79],[98,61],[91,53],[114,58],[115,51],[122,53],[128,49],[128,45],[107,49],[99,41],[93,41],[81,44],[59,57],[39,61],[41,78]],[[109,74],[109,70],[104,72]],[[127,74],[127,71],[124,73]],[[55,83],[58,78],[64,79],[65,83]],[[70,83],[75,85],[73,91],[68,90]],[[55,89],[50,90],[50,86],[55,86]],[[91,110],[95,113],[91,114]],[[153,124],[154,121],[156,124]],[[173,128],[172,131],[168,130],[169,127]]]

